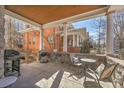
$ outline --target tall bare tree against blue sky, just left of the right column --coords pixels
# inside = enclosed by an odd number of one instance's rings
[[[97,48],[98,53],[102,53],[102,47],[105,47],[105,33],[106,33],[106,17],[98,17],[93,21],[93,28],[97,32]]]

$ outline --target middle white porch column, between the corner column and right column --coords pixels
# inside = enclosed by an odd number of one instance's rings
[[[67,52],[67,24],[63,24],[64,31],[63,31],[63,52]]]

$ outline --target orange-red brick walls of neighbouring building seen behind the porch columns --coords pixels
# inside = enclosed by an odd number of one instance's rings
[[[56,34],[57,28],[48,28],[44,30],[44,49],[49,52],[53,52],[56,49],[58,52],[63,51],[63,37],[60,34]],[[38,51],[40,49],[40,32],[39,31],[28,31],[23,33],[25,51]],[[35,38],[35,42],[33,42]],[[80,48],[68,47],[68,52],[79,53]]]

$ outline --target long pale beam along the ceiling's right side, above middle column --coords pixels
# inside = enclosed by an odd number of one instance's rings
[[[64,18],[64,19],[61,19],[61,20],[58,20],[58,21],[54,21],[54,22],[44,24],[43,28],[58,26],[62,23],[74,23],[74,22],[77,22],[77,21],[83,21],[83,20],[94,18],[94,17],[104,16],[104,15],[106,15],[107,10],[108,10],[108,7],[104,7],[104,8],[96,9],[94,11],[78,14],[78,15],[75,15],[75,16],[71,16],[71,17]]]

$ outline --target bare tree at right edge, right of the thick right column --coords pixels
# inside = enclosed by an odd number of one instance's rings
[[[119,42],[119,54],[124,57],[124,11],[114,13],[113,30]]]

